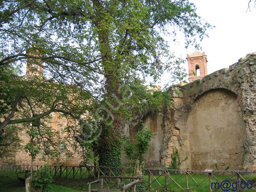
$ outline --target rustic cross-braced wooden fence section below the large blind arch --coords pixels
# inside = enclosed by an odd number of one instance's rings
[[[145,172],[149,191],[256,191],[256,170],[145,169]]]

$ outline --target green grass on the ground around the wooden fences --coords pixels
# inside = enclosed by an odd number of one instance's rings
[[[232,175],[223,175],[223,174],[213,174],[215,177],[219,179],[219,182],[224,180],[229,180],[231,183],[237,182],[237,176],[235,175],[230,179]],[[66,176],[66,175],[65,175]],[[88,175],[84,175],[86,177]],[[155,175],[154,177],[158,177],[159,175]],[[182,188],[186,188],[186,175],[181,175],[180,174],[173,174],[171,177],[176,180],[176,182],[182,186]],[[244,174],[242,175],[245,179],[247,180],[252,180],[254,183],[254,186],[256,184],[256,175],[250,175],[250,174]],[[151,177],[152,185],[151,185],[151,191],[154,192],[163,192],[163,188],[156,182],[154,181],[154,177]],[[179,178],[180,177],[180,178]],[[204,180],[204,178],[206,179]],[[78,176],[76,177],[78,178]],[[201,185],[197,186],[196,188],[193,188],[189,190],[189,192],[208,192],[210,191],[210,182],[207,174],[193,174],[193,178],[197,181],[197,183],[202,182]],[[148,185],[148,175],[145,175],[144,177],[146,185]],[[72,179],[71,177],[59,177],[55,176],[54,177],[54,184],[52,184],[52,189],[51,191],[53,192],[82,192],[82,191],[88,191],[88,186],[87,183],[89,181],[94,181],[95,178],[91,179]],[[165,186],[165,177],[164,174],[161,175],[158,179],[158,182],[164,187]],[[241,179],[242,180],[242,179]],[[212,179],[213,182],[217,182],[216,179],[213,177]],[[111,181],[111,184],[115,183],[116,181]],[[169,183],[172,183],[173,181],[169,178],[168,179]],[[124,181],[125,184],[129,183],[129,180]],[[196,183],[193,181],[193,179],[189,176],[189,187],[194,187],[196,186]],[[100,183],[95,183],[91,186],[91,188],[99,188]],[[106,188],[106,184],[104,183],[104,188]],[[230,188],[232,190],[232,188]],[[183,191],[178,185],[175,183],[172,183],[168,185],[168,190],[171,192],[181,192]],[[14,172],[7,172],[7,171],[0,171],[0,191],[2,192],[25,192],[25,186],[24,183],[20,182]],[[214,192],[221,192],[223,190],[213,190]],[[236,190],[232,190],[236,191]],[[238,191],[238,190],[237,190]],[[248,192],[254,191],[253,189],[247,190]]]

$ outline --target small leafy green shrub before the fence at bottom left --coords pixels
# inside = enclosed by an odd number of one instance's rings
[[[43,191],[50,190],[50,184],[52,183],[53,179],[50,175],[50,166],[45,164],[42,168],[35,171],[37,176],[33,179],[33,186],[43,188]]]

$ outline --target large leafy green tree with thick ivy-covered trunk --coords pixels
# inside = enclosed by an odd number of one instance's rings
[[[0,67],[34,59],[38,65],[44,63],[45,76],[58,85],[75,85],[89,95],[87,102],[97,101],[88,111],[95,122],[86,125],[102,128],[101,165],[121,164],[125,120],[153,103],[161,104],[154,99],[159,94],[148,94],[141,86],[145,77],[157,80],[164,70],[173,76],[182,74],[180,59],[162,35],[174,40],[181,31],[186,46],[197,46],[210,27],[188,0],[4,0],[0,6]],[[15,108],[14,98],[8,105]],[[55,109],[63,110],[48,111]],[[8,112],[1,130],[13,121]],[[38,114],[26,121],[40,118]]]

